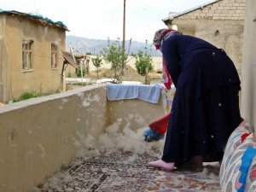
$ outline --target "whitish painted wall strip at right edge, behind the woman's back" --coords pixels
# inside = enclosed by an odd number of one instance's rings
[[[256,125],[256,1],[247,0],[242,51],[241,115]]]

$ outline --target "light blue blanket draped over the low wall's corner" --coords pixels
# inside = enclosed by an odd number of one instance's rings
[[[146,84],[108,84],[108,100],[140,99],[144,102],[158,103],[160,85]]]

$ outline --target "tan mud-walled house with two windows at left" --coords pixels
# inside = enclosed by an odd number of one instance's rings
[[[61,21],[0,9],[0,102],[61,90],[67,31]]]

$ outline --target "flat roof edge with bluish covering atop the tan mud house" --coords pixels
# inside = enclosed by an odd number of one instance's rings
[[[15,10],[0,9],[0,15],[2,15],[2,14],[24,17],[28,20],[36,20],[42,25],[55,26],[55,27],[58,27],[58,28],[61,28],[61,29],[65,30],[67,32],[69,31],[67,26],[64,25],[62,21],[53,21],[53,20],[50,20],[49,18],[44,17],[42,15],[26,14],[26,13],[22,13],[22,12],[15,11]]]

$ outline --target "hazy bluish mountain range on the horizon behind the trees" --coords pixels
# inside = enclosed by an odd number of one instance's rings
[[[113,41],[112,41],[113,42]],[[125,41],[125,49],[129,49],[129,41]],[[68,35],[66,36],[66,50],[70,50],[70,44],[75,52],[79,54],[86,54],[90,52],[92,55],[100,55],[103,48],[108,47],[108,40],[102,39],[90,39]],[[141,43],[137,41],[131,41],[130,54],[137,54],[139,50],[148,50],[148,54],[151,56],[161,56],[159,50],[155,50],[150,44]]]

